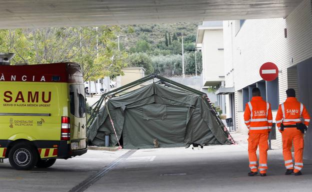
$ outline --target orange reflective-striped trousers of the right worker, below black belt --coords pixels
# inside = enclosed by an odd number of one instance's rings
[[[303,134],[297,128],[284,128],[281,132],[283,144],[283,156],[285,167],[288,170],[293,170],[294,173],[299,172],[303,168]],[[291,145],[293,141],[294,148],[294,166],[292,164]]]

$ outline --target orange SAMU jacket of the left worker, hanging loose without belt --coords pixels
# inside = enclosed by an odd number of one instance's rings
[[[272,111],[268,102],[262,97],[252,97],[246,103],[244,121],[249,133],[267,133],[272,128]]]

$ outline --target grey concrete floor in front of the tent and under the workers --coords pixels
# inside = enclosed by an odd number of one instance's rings
[[[268,176],[248,177],[246,137],[238,145],[204,149],[137,150],[91,185],[86,192],[310,192],[312,161],[304,160],[302,176],[284,176],[280,149],[268,152]],[[93,151],[57,160],[49,169],[16,171],[0,164],[0,192],[67,192],[128,152]]]

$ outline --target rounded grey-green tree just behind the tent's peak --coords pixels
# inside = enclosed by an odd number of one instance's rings
[[[153,66],[151,59],[146,53],[132,53],[128,56],[128,66],[130,67],[143,67],[145,69],[145,75],[152,73]]]

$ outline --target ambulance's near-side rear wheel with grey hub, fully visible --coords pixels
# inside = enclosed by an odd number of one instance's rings
[[[38,154],[31,145],[18,143],[9,150],[8,161],[16,170],[30,170],[36,165]]]

